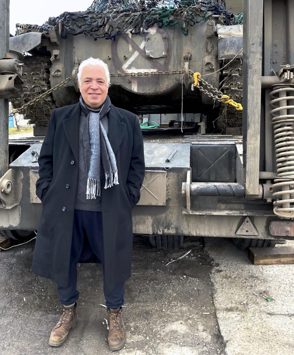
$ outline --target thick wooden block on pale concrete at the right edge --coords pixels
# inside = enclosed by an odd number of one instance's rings
[[[294,264],[294,248],[290,246],[249,248],[248,258],[254,265]]]

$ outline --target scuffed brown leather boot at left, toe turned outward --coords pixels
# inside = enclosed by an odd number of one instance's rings
[[[56,326],[52,329],[52,332],[50,334],[49,345],[60,346],[65,342],[68,332],[76,324],[76,318],[77,318],[76,308],[77,308],[77,304],[75,304],[70,308],[67,307],[63,308],[62,316],[60,317],[60,320],[58,321]]]

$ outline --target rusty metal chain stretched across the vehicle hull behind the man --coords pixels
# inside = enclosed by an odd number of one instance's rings
[[[111,77],[116,77],[116,76],[152,76],[152,75],[178,75],[178,74],[184,74],[184,70],[172,70],[172,71],[155,71],[155,72],[133,72],[133,73],[111,73],[110,76]],[[189,71],[189,74],[193,76],[193,72]],[[28,103],[24,104],[22,107],[14,110],[12,113],[10,113],[9,115],[15,115],[16,113],[21,112],[22,110],[26,109],[29,106],[32,106],[33,104],[35,104],[36,102],[38,102],[39,100],[43,99],[45,96],[51,94],[53,91],[55,91],[56,89],[60,88],[61,86],[63,86],[64,84],[66,84],[68,81],[72,80],[72,76],[66,78],[65,80],[63,80],[62,82],[60,82],[59,84],[55,85],[54,87],[52,87],[51,89],[45,91],[43,94],[40,94],[39,96],[35,97],[33,100],[29,101]],[[218,91],[215,87],[213,87],[211,84],[209,84],[207,81],[203,80],[202,78],[199,79],[199,81],[201,81],[203,84],[205,84],[207,87],[209,87],[211,89],[211,91],[215,92],[217,95],[223,95],[223,93],[221,91]],[[205,88],[203,88],[200,85],[197,85],[198,89],[200,91],[202,91],[203,93],[205,93],[206,95],[208,95],[209,97],[211,97],[214,100],[217,101],[222,101],[222,99],[216,95],[213,95],[211,92],[207,91]]]

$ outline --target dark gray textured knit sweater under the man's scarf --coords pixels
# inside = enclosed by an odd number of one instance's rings
[[[105,115],[101,119],[101,123],[108,134],[108,115]],[[81,111],[80,122],[79,122],[79,180],[75,209],[80,209],[83,211],[95,211],[101,212],[101,197],[96,196],[96,199],[88,199],[86,196],[87,192],[87,169],[86,162],[84,158],[84,144],[83,144],[83,133],[88,129],[87,116]],[[102,171],[103,173],[103,171]]]

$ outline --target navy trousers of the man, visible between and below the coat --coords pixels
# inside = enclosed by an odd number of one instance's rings
[[[77,263],[80,260],[84,242],[89,246],[104,269],[102,213],[93,211],[74,210],[70,271],[67,287],[57,285],[59,301],[65,306],[73,304],[79,297],[77,291]],[[106,307],[117,309],[124,305],[124,282],[115,285],[113,290],[106,294],[104,288]]]

